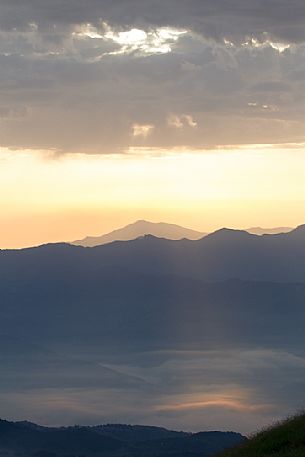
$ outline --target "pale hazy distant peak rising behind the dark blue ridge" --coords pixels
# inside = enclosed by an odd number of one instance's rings
[[[185,227],[180,227],[175,224],[137,221],[133,224],[127,225],[126,227],[107,233],[106,235],[96,237],[89,236],[83,240],[73,241],[71,244],[76,246],[93,247],[111,243],[113,241],[134,240],[144,235],[153,235],[158,238],[167,238],[169,240],[180,240],[182,238],[197,240],[204,237],[206,234]]]

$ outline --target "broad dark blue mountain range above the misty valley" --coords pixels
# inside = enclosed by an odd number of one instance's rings
[[[284,332],[303,344],[303,332],[290,332],[304,309],[301,283],[305,226],[279,235],[222,229],[198,241],[146,236],[94,248],[0,251],[1,346],[5,354],[20,346],[42,357],[40,338],[147,348],[222,344],[224,322],[231,342],[279,343]],[[276,319],[274,310],[285,313],[287,303],[286,318]],[[179,319],[186,306],[188,317]],[[262,315],[269,333],[261,331]]]

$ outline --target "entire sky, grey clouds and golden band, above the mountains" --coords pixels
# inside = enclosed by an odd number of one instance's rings
[[[1,0],[0,247],[304,222],[305,5]]]

